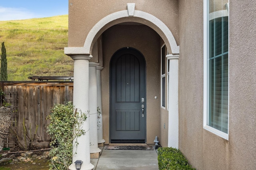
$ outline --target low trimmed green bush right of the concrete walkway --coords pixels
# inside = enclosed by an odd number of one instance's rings
[[[195,170],[176,148],[158,148],[159,170]]]

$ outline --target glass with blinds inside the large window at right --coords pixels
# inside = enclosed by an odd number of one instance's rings
[[[208,123],[228,133],[228,16],[221,16],[228,0],[209,0]]]

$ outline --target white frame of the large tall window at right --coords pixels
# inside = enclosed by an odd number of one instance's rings
[[[210,127],[207,125],[208,123],[208,108],[209,108],[209,96],[208,96],[208,51],[209,51],[209,21],[210,19],[214,19],[213,16],[216,16],[215,18],[219,18],[222,16],[228,16],[229,13],[229,3],[226,4],[226,10],[217,11],[216,14],[212,15],[209,14],[208,16],[208,1],[204,0],[204,120],[203,120],[203,128],[205,130],[208,130],[226,140],[228,140],[228,134],[229,134],[229,97],[228,97],[228,133],[222,132],[216,128]],[[228,18],[229,20],[229,18]],[[229,29],[228,29],[229,30]],[[228,38],[229,41],[229,38]],[[229,55],[229,54],[228,54]],[[229,57],[228,57],[229,60]],[[228,62],[228,70],[229,70],[229,62]],[[229,72],[228,72],[229,74]],[[229,76],[229,75],[228,75]],[[229,80],[228,80],[228,87],[229,87]],[[229,96],[229,91],[228,91]]]

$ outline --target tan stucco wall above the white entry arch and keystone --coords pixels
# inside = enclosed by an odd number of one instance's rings
[[[97,2],[91,0],[69,0],[68,47],[83,47],[86,36],[93,26],[109,14],[127,10],[127,3],[135,3],[135,10],[152,14],[164,22],[179,44],[177,0],[162,0],[161,2],[154,0],[98,0]],[[134,20],[134,18],[128,17],[125,20]],[[114,22],[118,23],[118,21]],[[136,18],[136,22],[152,24],[138,18]],[[96,37],[97,39],[98,37]]]

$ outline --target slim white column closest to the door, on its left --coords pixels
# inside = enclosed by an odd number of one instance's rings
[[[100,117],[98,118],[98,143],[104,143],[105,140],[103,139],[103,127],[102,127],[102,94],[101,94],[101,70],[103,69],[102,66],[97,66],[97,103],[100,109]]]

